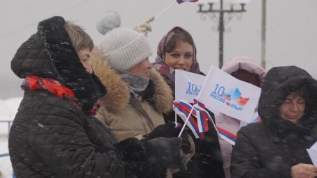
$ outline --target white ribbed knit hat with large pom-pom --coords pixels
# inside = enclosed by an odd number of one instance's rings
[[[126,71],[153,53],[145,35],[120,27],[120,17],[113,11],[98,19],[97,29],[104,35],[99,44],[101,55],[115,70]]]

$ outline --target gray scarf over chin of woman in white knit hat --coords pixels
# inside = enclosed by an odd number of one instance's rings
[[[129,90],[134,95],[138,96],[138,93],[143,92],[149,84],[149,78],[132,74],[131,72],[119,72],[123,81],[129,83]]]

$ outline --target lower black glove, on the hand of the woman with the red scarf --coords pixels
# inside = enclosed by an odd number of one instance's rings
[[[145,155],[152,163],[158,162],[163,168],[183,168],[183,159],[186,158],[184,153],[180,154],[182,142],[183,138],[160,137],[144,140]]]

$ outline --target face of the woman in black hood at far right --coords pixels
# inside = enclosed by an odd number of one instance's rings
[[[305,107],[305,99],[300,97],[299,92],[291,92],[279,106],[279,118],[298,123],[304,115]]]

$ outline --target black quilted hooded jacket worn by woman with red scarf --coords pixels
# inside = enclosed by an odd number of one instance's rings
[[[40,22],[11,67],[20,78],[60,81],[89,110],[106,90],[81,65],[64,24],[63,17]],[[26,88],[8,144],[17,177],[152,177],[154,172],[139,140],[115,143],[94,116],[47,90]]]

